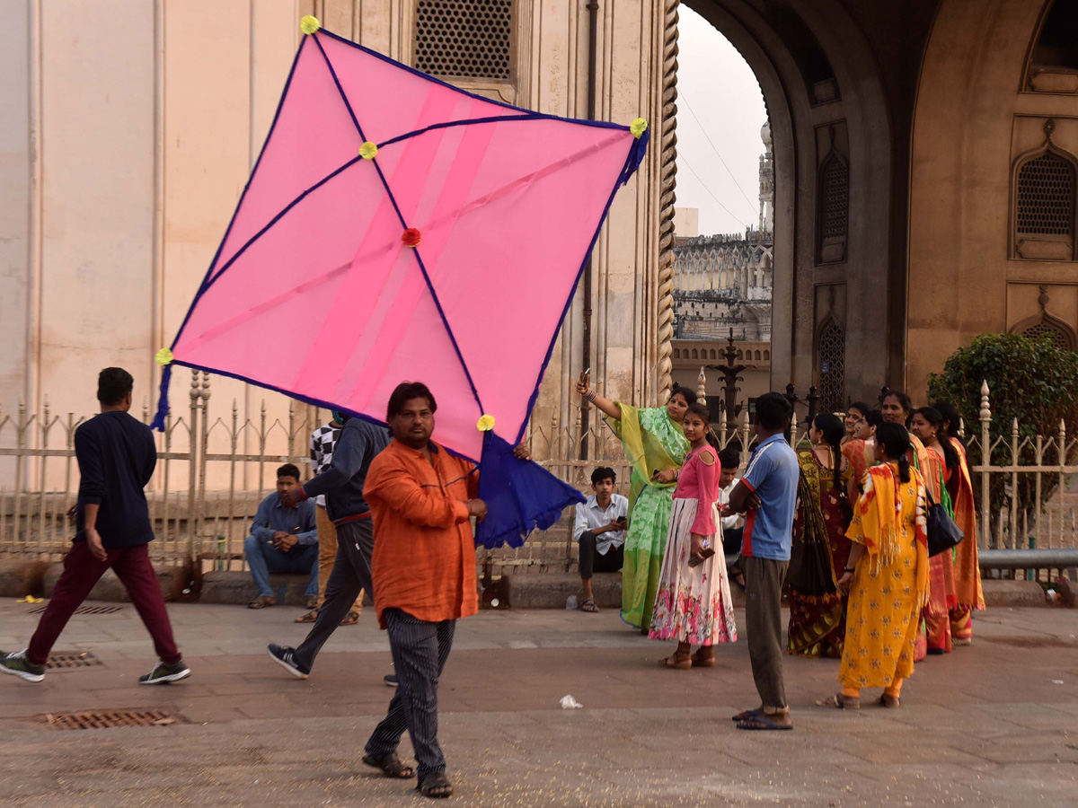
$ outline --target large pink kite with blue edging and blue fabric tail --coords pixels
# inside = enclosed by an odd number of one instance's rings
[[[479,541],[520,545],[581,499],[524,435],[573,290],[647,125],[465,93],[304,17],[277,114],[165,364],[383,422],[424,381],[436,438],[478,459]]]

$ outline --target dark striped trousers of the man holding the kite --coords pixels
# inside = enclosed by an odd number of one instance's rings
[[[400,609],[387,609],[383,616],[400,684],[364,751],[373,757],[396,752],[407,729],[421,782],[427,775],[445,770],[438,746],[438,679],[453,647],[457,622],[427,623]]]

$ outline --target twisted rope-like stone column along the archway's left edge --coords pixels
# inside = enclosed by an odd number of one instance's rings
[[[669,398],[674,363],[674,193],[677,175],[677,22],[680,0],[663,0],[662,123],[659,168],[659,403]]]

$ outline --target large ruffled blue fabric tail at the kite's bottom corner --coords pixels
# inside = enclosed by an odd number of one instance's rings
[[[545,530],[566,506],[585,498],[530,460],[519,460],[513,447],[487,432],[480,458],[479,497],[486,503],[486,518],[479,524],[475,544],[520,547],[528,533]]]

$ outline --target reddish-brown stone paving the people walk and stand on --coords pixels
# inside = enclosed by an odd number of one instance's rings
[[[32,607],[0,600],[0,647]],[[341,628],[306,681],[265,656],[301,610],[174,604],[194,675],[139,687],[153,664],[128,605],[72,621],[56,651],[102,665],[0,680],[0,806],[414,806],[412,784],[359,764],[390,691],[371,613]],[[757,703],[744,641],[710,670],[665,671],[668,649],[612,611],[485,612],[460,624],[441,687],[457,806],[1026,806],[1078,804],[1078,618],[994,610],[978,641],[918,666],[900,710],[827,711],[838,663],[788,659],[797,728],[743,733]],[[563,711],[572,694],[584,705]],[[59,730],[45,715],[162,710],[175,724]],[[402,751],[411,752],[407,741]]]

